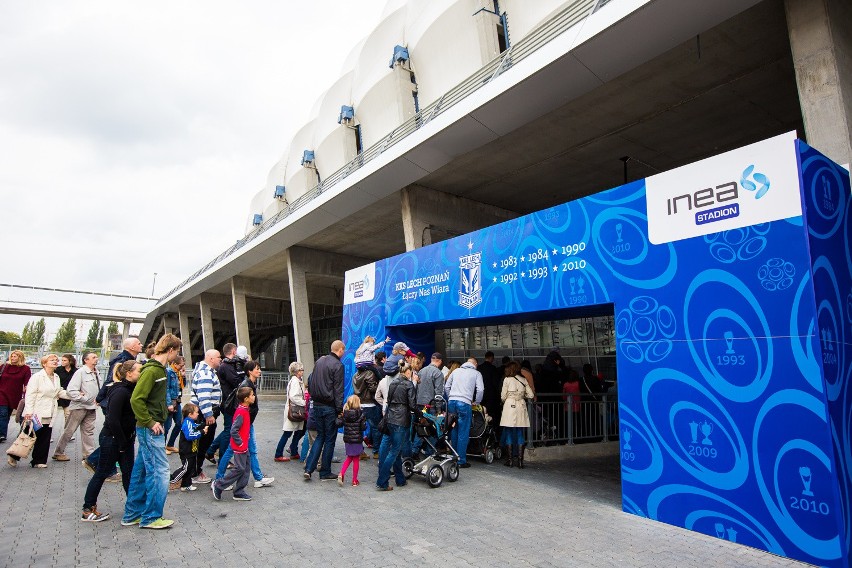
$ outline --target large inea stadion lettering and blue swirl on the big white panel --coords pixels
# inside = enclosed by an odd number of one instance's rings
[[[666,200],[668,215],[677,215],[686,211],[695,212],[695,224],[704,225],[724,219],[740,216],[740,191],[754,194],[758,200],[769,191],[769,177],[754,171],[754,164],[743,170],[739,184],[728,181],[715,187],[699,189],[693,193],[684,193]],[[717,207],[713,207],[718,205]],[[707,209],[710,207],[710,209]]]

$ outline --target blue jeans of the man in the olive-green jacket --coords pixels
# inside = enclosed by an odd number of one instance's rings
[[[133,462],[130,492],[124,504],[124,521],[141,519],[148,525],[163,516],[169,493],[169,462],[166,459],[166,435],[155,435],[148,428],[136,427],[139,454]]]

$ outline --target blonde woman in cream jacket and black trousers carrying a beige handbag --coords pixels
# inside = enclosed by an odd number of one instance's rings
[[[24,398],[24,420],[32,419],[37,415],[41,420],[42,427],[36,432],[36,441],[33,445],[32,460],[30,465],[37,468],[47,467],[47,454],[50,451],[50,427],[53,419],[59,415],[59,405],[56,401],[60,398],[70,398],[65,389],[59,383],[59,374],[56,368],[59,366],[59,357],[53,353],[41,358],[42,369],[30,378],[27,384],[27,394]],[[15,467],[20,458],[9,456],[9,465]]]

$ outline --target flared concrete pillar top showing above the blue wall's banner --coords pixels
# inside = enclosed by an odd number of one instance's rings
[[[514,211],[417,185],[400,190],[400,203],[406,251],[518,216]]]

